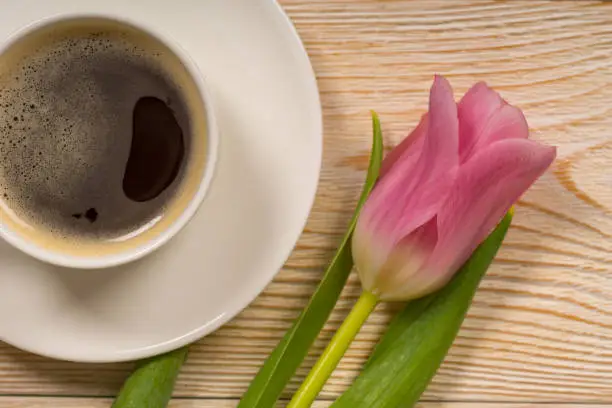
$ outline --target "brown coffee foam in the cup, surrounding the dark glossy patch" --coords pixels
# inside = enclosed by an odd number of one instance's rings
[[[28,239],[77,254],[125,249],[167,228],[195,194],[204,107],[180,61],[144,33],[105,20],[43,28],[0,57],[0,88],[0,216]],[[121,180],[142,96],[169,102],[187,157],[169,188],[136,203]]]

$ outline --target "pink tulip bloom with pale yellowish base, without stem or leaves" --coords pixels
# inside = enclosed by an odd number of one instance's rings
[[[554,161],[528,136],[520,109],[485,83],[455,103],[436,76],[429,112],[385,158],[355,228],[364,289],[410,300],[446,284]]]

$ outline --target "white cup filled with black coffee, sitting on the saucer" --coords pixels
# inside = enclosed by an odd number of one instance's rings
[[[218,130],[194,61],[161,30],[64,15],[0,46],[0,237],[105,268],[168,242],[200,207]]]

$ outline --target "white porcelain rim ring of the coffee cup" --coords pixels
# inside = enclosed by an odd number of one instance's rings
[[[187,206],[181,211],[180,215],[165,230],[161,231],[158,235],[150,238],[145,243],[137,247],[120,250],[117,253],[107,255],[75,256],[36,245],[27,238],[13,231],[0,220],[0,238],[26,255],[38,259],[39,261],[60,267],[75,269],[103,269],[120,266],[145,257],[170,241],[189,223],[200,208],[215,175],[219,145],[219,129],[215,115],[215,107],[212,100],[212,93],[197,63],[192,59],[189,53],[168,33],[165,33],[158,28],[151,27],[143,22],[135,21],[132,18],[125,18],[113,13],[81,12],[62,13],[59,15],[38,19],[31,24],[21,27],[4,41],[0,41],[0,58],[5,51],[17,41],[40,28],[65,21],[88,18],[106,19],[122,25],[131,26],[151,36],[156,41],[159,41],[161,44],[166,46],[184,65],[187,73],[196,86],[198,95],[202,99],[202,103],[204,105],[206,120],[206,162],[204,164],[202,176],[195,194]]]

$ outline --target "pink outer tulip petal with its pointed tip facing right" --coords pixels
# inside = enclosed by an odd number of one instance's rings
[[[527,139],[501,140],[460,167],[438,214],[439,239],[427,269],[452,274],[520,196],[548,169],[554,147]]]

